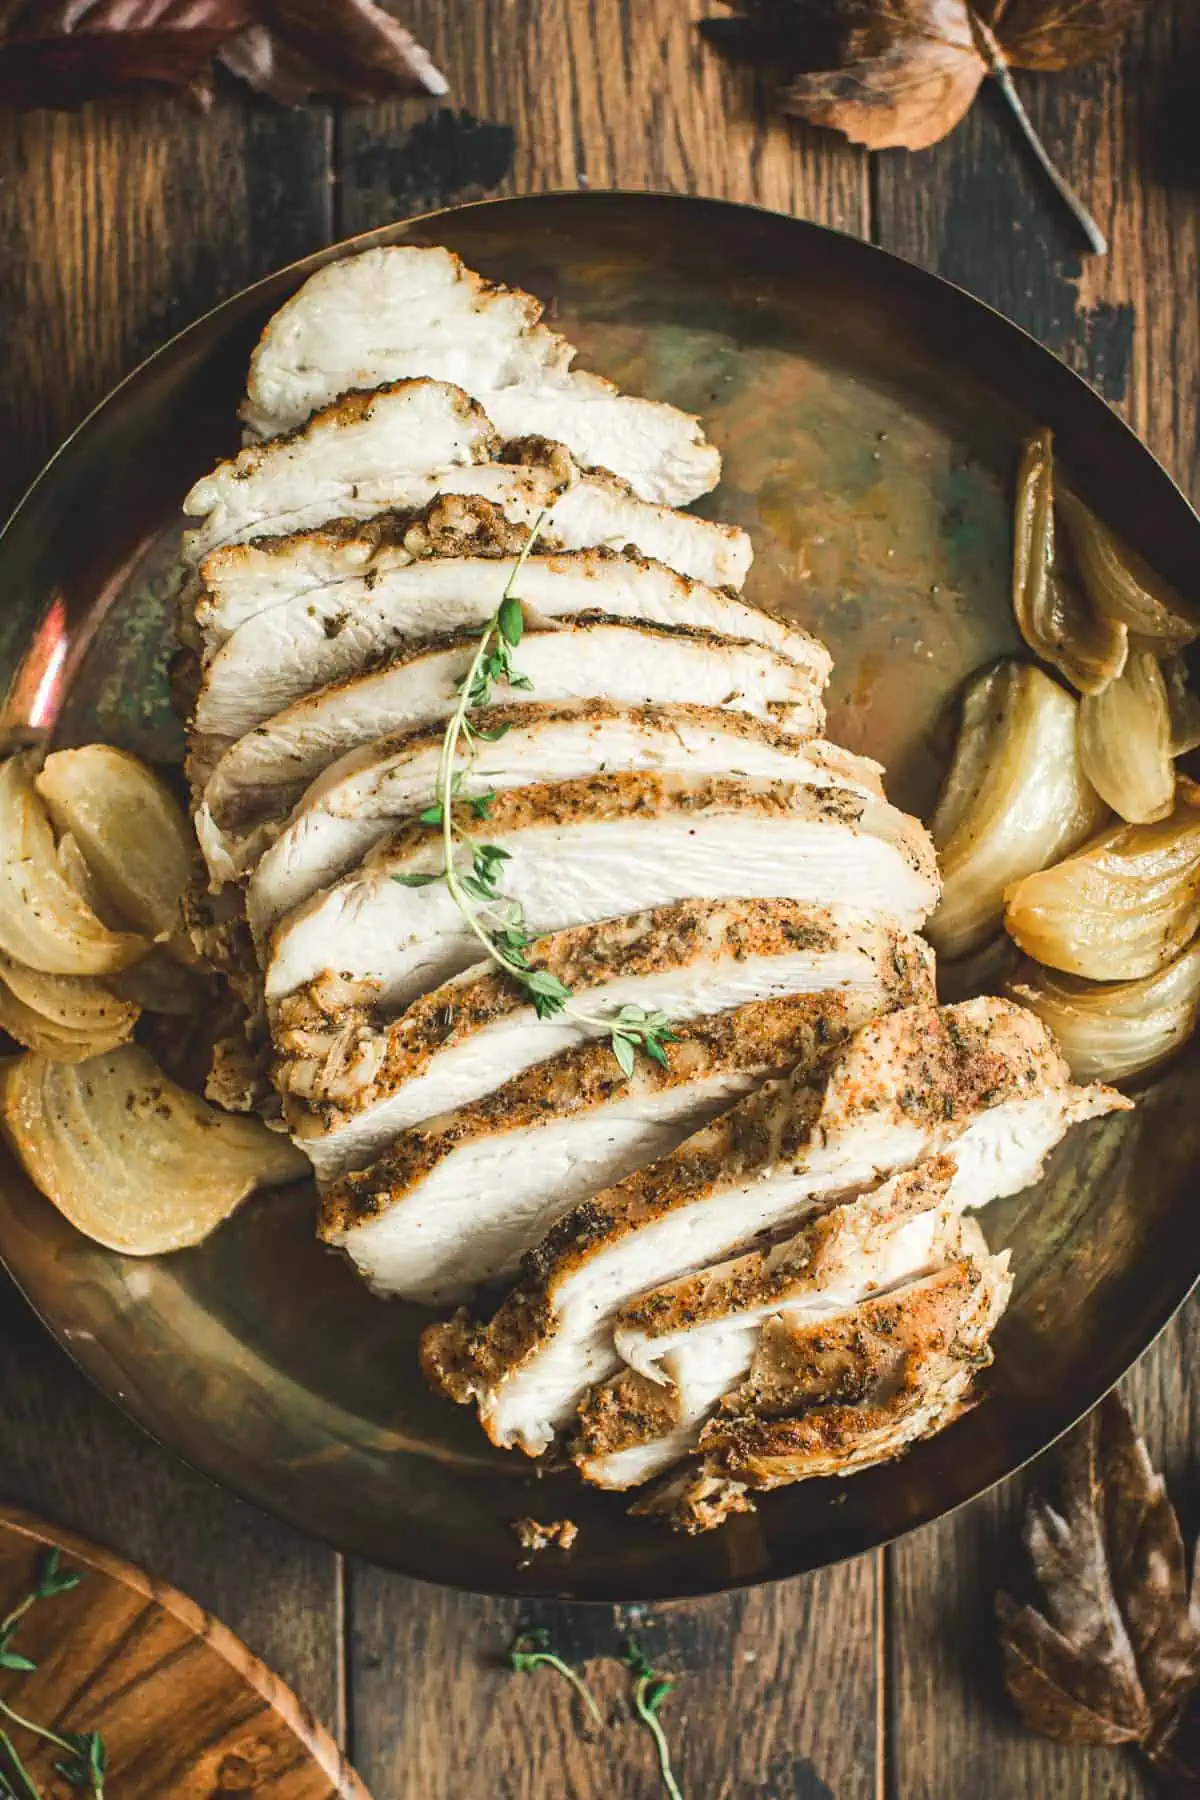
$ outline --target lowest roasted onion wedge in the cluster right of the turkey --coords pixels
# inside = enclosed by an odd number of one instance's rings
[[[1006,985],[1061,1046],[1076,1082],[1123,1082],[1173,1057],[1200,1010],[1200,943],[1141,981],[1081,981],[1024,963]]]

